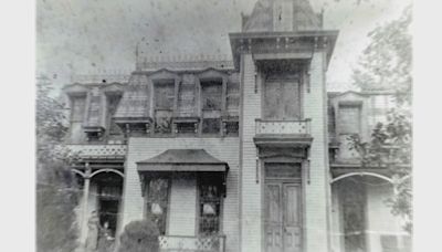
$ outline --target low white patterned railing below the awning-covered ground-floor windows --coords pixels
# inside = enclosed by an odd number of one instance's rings
[[[194,251],[194,252],[224,252],[225,237],[183,237],[161,235],[159,248],[161,252]]]

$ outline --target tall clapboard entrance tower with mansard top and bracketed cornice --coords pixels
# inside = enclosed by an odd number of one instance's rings
[[[284,251],[329,251],[325,73],[338,31],[324,30],[322,19],[308,0],[259,0],[250,15],[242,15],[242,32],[230,34],[242,92],[241,251],[281,251],[278,241],[286,241]],[[281,134],[285,126],[272,132],[278,122],[303,126],[296,134]],[[269,149],[302,164],[296,190],[302,191],[303,223],[284,237],[267,227],[270,213],[260,211],[270,203],[266,164],[274,154]]]

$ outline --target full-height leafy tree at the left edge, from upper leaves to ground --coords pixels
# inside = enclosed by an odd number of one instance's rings
[[[76,248],[76,183],[66,168],[69,151],[62,148],[64,106],[51,97],[48,77],[36,82],[36,249],[69,252]]]

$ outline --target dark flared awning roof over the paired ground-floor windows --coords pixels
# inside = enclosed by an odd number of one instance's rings
[[[204,149],[168,149],[152,158],[138,161],[141,171],[219,171],[227,172],[229,165]]]

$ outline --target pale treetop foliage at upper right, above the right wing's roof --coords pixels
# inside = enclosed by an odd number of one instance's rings
[[[368,36],[371,43],[364,50],[354,70],[354,83],[362,90],[388,90],[398,93],[398,102],[411,99],[411,7],[402,17],[378,27]]]

